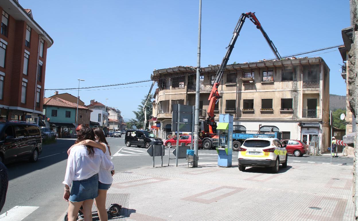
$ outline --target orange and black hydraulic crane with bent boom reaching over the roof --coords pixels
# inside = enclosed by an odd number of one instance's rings
[[[272,52],[275,54],[277,59],[281,59],[281,56],[279,52],[277,51],[277,48],[275,47],[274,43],[270,40],[269,36],[266,34],[266,32],[263,30],[261,23],[258,21],[258,19],[255,16],[255,13],[248,12],[248,13],[242,13],[240,16],[240,19],[238,20],[236,27],[233,32],[233,36],[231,38],[231,41],[229,43],[229,46],[227,47],[226,54],[221,62],[221,65],[216,73],[216,77],[214,80],[213,88],[209,95],[209,109],[208,109],[208,117],[204,121],[204,130],[202,131],[201,137],[203,139],[203,148],[204,149],[210,149],[213,144],[213,139],[217,138],[216,134],[216,128],[217,124],[215,122],[215,115],[214,115],[214,109],[215,104],[219,101],[222,96],[218,92],[218,87],[222,79],[222,75],[224,73],[224,70],[226,68],[226,64],[229,61],[230,54],[232,52],[232,49],[234,48],[234,44],[237,40],[238,35],[240,34],[242,25],[245,22],[245,19],[248,18],[252,21],[253,24],[256,25],[257,29],[260,29],[263,37],[266,39],[266,42],[269,44]],[[206,138],[206,139],[205,139]]]

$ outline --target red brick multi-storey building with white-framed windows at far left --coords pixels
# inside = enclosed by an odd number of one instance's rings
[[[17,0],[1,0],[0,114],[3,120],[39,123],[47,49],[52,38]]]

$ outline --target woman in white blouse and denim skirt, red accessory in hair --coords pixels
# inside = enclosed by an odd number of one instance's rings
[[[76,145],[68,156],[66,175],[63,181],[65,192],[63,198],[69,201],[68,220],[76,221],[79,208],[83,207],[84,220],[92,220],[93,199],[98,196],[98,172],[100,167],[113,170],[113,163],[100,149],[83,145],[84,140],[95,140],[91,128],[79,125],[76,128]],[[71,185],[72,184],[72,185]],[[71,187],[71,192],[69,187]]]

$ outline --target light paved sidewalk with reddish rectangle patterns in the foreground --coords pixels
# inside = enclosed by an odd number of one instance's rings
[[[277,174],[212,162],[144,167],[116,173],[107,203],[123,206],[112,220],[353,220],[352,172],[298,163],[280,165]]]

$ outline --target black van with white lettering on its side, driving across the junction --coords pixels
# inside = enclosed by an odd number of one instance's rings
[[[146,130],[127,130],[124,138],[126,146],[136,145],[149,148],[150,145],[163,145],[163,140]]]

